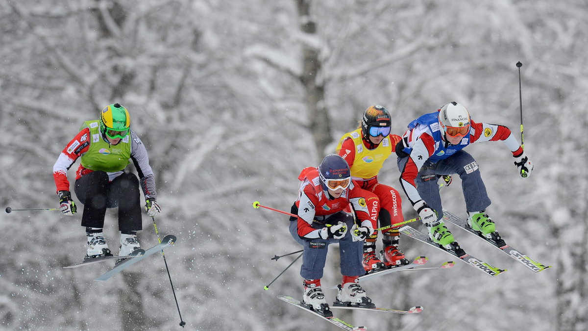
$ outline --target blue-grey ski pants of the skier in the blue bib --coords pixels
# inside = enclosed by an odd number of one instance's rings
[[[400,171],[405,167],[408,157],[397,159]],[[439,213],[439,220],[443,217],[443,206],[439,194],[437,175],[458,174],[462,180],[463,198],[466,201],[468,212],[484,210],[490,206],[490,198],[486,192],[486,186],[480,176],[480,170],[472,155],[463,150],[436,163],[425,161],[416,176],[416,190],[429,207]]]

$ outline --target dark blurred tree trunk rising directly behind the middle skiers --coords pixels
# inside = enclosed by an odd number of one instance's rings
[[[316,23],[310,16],[310,0],[296,0],[300,31],[316,35]],[[302,45],[302,75],[300,82],[305,89],[305,105],[308,110],[309,130],[313,135],[318,153],[322,160],[325,147],[331,140],[329,113],[325,107],[325,80],[322,75],[322,63],[319,49],[315,45]]]

